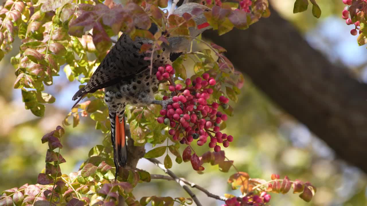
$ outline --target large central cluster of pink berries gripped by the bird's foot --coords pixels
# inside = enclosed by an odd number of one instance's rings
[[[159,67],[156,74],[158,80],[167,80],[175,73],[171,65]],[[172,129],[168,133],[172,135],[173,140],[179,140],[181,144],[190,144],[194,139],[197,145],[202,146],[210,137],[209,147],[219,152],[222,143],[224,147],[229,146],[233,141],[231,135],[220,132],[220,124],[228,119],[226,114],[218,111],[219,106],[227,109],[229,99],[225,96],[219,97],[219,103],[208,103],[216,81],[209,74],[204,73],[191,81],[189,78],[185,81],[185,86],[181,84],[173,85],[170,82],[169,90],[176,92],[172,97],[173,103],[167,106],[167,109],[160,111],[161,117],[157,118],[160,124],[170,125]],[[167,96],[163,100],[168,99]]]

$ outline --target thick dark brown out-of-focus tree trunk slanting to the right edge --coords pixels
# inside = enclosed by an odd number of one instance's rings
[[[308,126],[339,158],[367,172],[367,85],[331,64],[272,11],[247,30],[204,33],[276,104]]]

